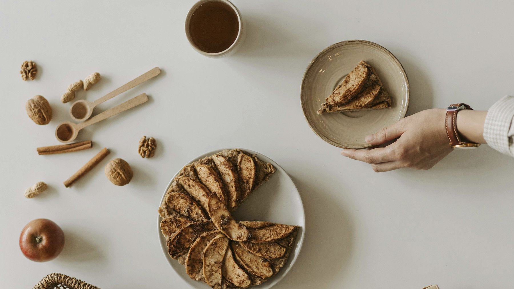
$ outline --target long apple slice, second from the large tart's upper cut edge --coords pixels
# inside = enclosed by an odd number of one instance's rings
[[[241,189],[239,187],[237,172],[232,163],[222,155],[216,154],[212,156],[212,160],[216,164],[219,174],[221,174],[223,184],[228,191],[227,207],[230,211],[233,211],[241,200]]]

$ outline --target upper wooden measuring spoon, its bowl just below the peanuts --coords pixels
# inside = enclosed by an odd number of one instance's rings
[[[104,101],[110,100],[114,98],[116,95],[125,92],[135,86],[140,85],[141,83],[154,78],[155,76],[159,75],[160,69],[159,67],[155,67],[141,75],[139,75],[136,79],[127,82],[126,84],[120,86],[119,88],[116,88],[115,90],[105,94],[103,97],[97,99],[94,102],[86,101],[86,100],[78,100],[73,105],[71,105],[69,109],[69,115],[71,116],[71,119],[77,122],[83,122],[87,120],[91,113],[93,113],[93,108],[95,106],[101,104]]]

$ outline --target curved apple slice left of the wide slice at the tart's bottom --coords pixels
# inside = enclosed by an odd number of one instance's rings
[[[200,237],[198,237],[191,245],[185,262],[186,273],[189,275],[189,277],[191,277],[191,279],[197,281],[203,279],[205,247],[214,237],[218,235],[218,230],[212,230],[210,232],[201,234]]]

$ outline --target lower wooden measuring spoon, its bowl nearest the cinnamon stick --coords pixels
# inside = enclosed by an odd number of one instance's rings
[[[77,138],[79,130],[83,129],[84,127],[99,121],[103,121],[106,118],[112,117],[113,115],[123,112],[127,109],[131,109],[135,106],[145,103],[146,101],[148,101],[148,95],[146,95],[146,93],[141,93],[137,97],[127,100],[126,102],[113,108],[109,108],[83,123],[63,122],[56,129],[56,138],[62,143],[69,143]]]

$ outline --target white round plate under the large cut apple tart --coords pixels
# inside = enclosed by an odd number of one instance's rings
[[[282,278],[284,278],[287,272],[289,272],[289,270],[291,269],[292,265],[295,263],[298,254],[300,254],[300,249],[302,248],[303,244],[303,237],[305,235],[305,212],[303,210],[303,204],[300,198],[300,194],[298,193],[298,189],[296,188],[295,184],[292,182],[291,178],[287,175],[287,173],[284,171],[282,167],[280,167],[276,162],[262,155],[261,153],[249,149],[241,149],[252,154],[255,153],[260,160],[272,164],[277,169],[277,171],[274,172],[274,174],[269,178],[269,181],[264,182],[259,188],[253,191],[250,194],[250,196],[245,200],[245,202],[234,211],[234,219],[240,221],[269,221],[273,223],[300,226],[296,245],[293,248],[291,254],[289,255],[289,259],[287,260],[287,263],[284,265],[284,267],[282,267],[279,273],[273,278],[262,283],[261,285],[251,287],[266,289],[271,288],[273,285],[277,284]],[[195,162],[199,159],[203,159],[205,157],[212,156],[214,155],[214,153],[222,150],[224,149],[217,149],[210,152],[206,152],[203,155],[200,155],[192,159],[187,164]],[[178,172],[179,171],[177,171],[175,176],[173,176],[170,183],[164,190],[164,194],[162,195],[162,199],[159,205],[162,203],[164,195],[166,195],[168,188],[173,182],[173,179],[175,179],[175,177],[178,175]],[[162,218],[158,216],[157,233],[159,234],[159,242],[161,244],[162,253],[164,253],[164,256],[168,260],[168,263],[170,263],[171,267],[175,270],[178,276],[180,276],[182,280],[186,281],[186,283],[188,283],[192,288],[210,288],[204,282],[195,281],[189,278],[184,266],[180,265],[177,260],[173,260],[170,257],[170,255],[168,255],[168,246],[166,245],[166,238],[162,236],[160,230],[161,220]]]

